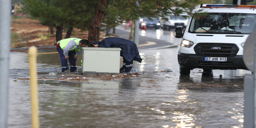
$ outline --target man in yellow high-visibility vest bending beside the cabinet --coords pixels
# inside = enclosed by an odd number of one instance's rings
[[[82,47],[86,47],[88,44],[89,41],[87,39],[79,38],[67,38],[58,41],[56,48],[61,57],[62,72],[66,72],[69,69],[67,59],[69,59],[70,72],[74,72],[77,69],[75,67],[77,56],[82,53]]]

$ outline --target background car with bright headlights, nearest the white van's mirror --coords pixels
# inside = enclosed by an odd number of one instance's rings
[[[170,31],[172,28],[186,28],[187,27],[187,22],[189,22],[189,19],[185,19],[182,16],[170,16],[168,18],[168,21],[163,21],[161,27],[163,30],[168,30]]]

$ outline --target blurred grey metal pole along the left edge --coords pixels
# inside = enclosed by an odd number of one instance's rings
[[[0,128],[7,128],[11,0],[0,0]]]

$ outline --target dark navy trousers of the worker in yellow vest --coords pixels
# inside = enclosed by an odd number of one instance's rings
[[[59,47],[58,52],[61,57],[62,71],[65,71],[69,69],[69,66],[67,65],[67,60],[65,59],[65,55],[63,54],[63,50],[61,49],[61,47]],[[75,69],[77,69],[77,67],[75,67],[75,61],[77,61],[77,59],[74,59],[75,51],[69,51],[68,55],[69,55],[70,72],[73,72],[75,71]]]

